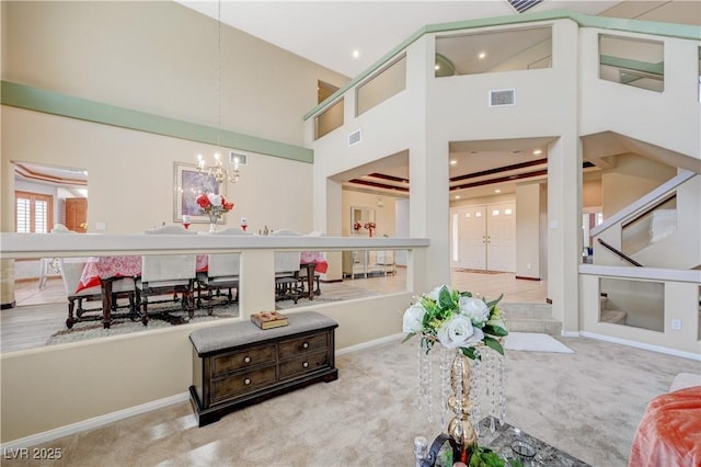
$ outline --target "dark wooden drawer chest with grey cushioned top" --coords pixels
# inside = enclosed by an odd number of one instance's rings
[[[315,311],[287,316],[289,324],[281,328],[262,330],[239,321],[189,334],[189,399],[199,426],[271,397],[338,378],[334,343],[338,323]]]

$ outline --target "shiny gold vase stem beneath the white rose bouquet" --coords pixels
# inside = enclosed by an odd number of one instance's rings
[[[450,365],[450,386],[452,396],[448,398],[448,408],[455,413],[448,423],[448,434],[455,442],[453,462],[470,463],[470,455],[478,444],[478,435],[470,423],[470,377],[472,368],[470,361],[462,354],[460,349],[456,350],[456,356]],[[458,457],[456,458],[456,455]]]

